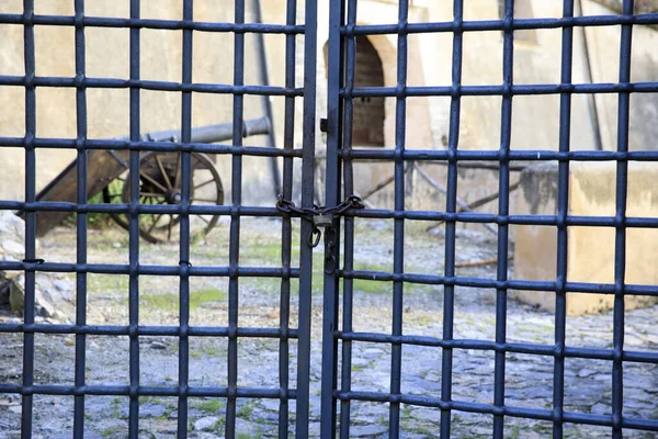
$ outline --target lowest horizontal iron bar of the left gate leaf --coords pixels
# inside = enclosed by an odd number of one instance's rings
[[[21,395],[92,395],[92,396],[180,396],[185,394],[189,397],[229,397],[235,395],[241,398],[269,398],[281,399],[282,392],[288,399],[297,397],[297,391],[294,389],[259,389],[259,387],[237,387],[232,392],[229,387],[190,386],[183,390],[179,386],[147,386],[140,385],[131,387],[129,385],[58,385],[58,384],[35,384],[29,387],[20,384],[0,384],[0,393],[18,393]]]

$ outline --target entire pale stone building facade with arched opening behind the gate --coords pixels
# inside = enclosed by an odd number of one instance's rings
[[[608,1],[608,0],[606,0]],[[610,1],[608,1],[610,3]],[[179,0],[143,1],[141,14],[152,19],[181,19]],[[194,16],[207,22],[231,22],[232,0],[196,0]],[[262,2],[263,20],[269,23],[285,22],[285,1]],[[303,3],[303,2],[299,2]],[[329,0],[319,0],[318,36],[318,117],[326,112],[327,60],[322,56],[328,35]],[[616,13],[601,4],[600,0],[582,0],[583,14]],[[603,2],[605,3],[605,1]],[[397,22],[398,4],[394,0],[360,0],[359,24]],[[544,0],[517,0],[517,18],[557,18],[561,2]],[[36,2],[38,14],[72,15],[72,2]],[[498,0],[468,0],[464,2],[464,20],[495,20],[499,18]],[[0,4],[0,13],[22,12],[22,1],[10,0]],[[127,1],[88,2],[88,15],[128,16]],[[303,4],[298,5],[298,22],[303,22]],[[249,21],[250,11],[247,11]],[[443,22],[452,20],[451,2],[411,0],[409,22]],[[180,31],[141,30],[141,77],[144,79],[180,81],[182,58],[182,33]],[[585,40],[589,63],[585,56]],[[72,77],[75,75],[73,29],[65,26],[35,27],[36,65],[39,76]],[[89,77],[127,78],[129,32],[125,29],[86,29],[87,75]],[[19,25],[0,25],[0,74],[24,75],[23,30]],[[246,83],[258,83],[254,36],[246,35]],[[285,78],[285,37],[266,35],[268,63],[271,85],[283,86]],[[574,81],[616,82],[619,75],[620,26],[588,27],[575,32]],[[633,81],[658,79],[658,32],[646,26],[635,26],[633,35]],[[297,85],[303,82],[304,40],[297,38]],[[409,86],[447,86],[451,83],[452,34],[412,34],[408,40]],[[225,33],[194,33],[195,82],[232,82],[234,37]],[[358,42],[356,83],[393,86],[396,83],[397,37],[376,35],[360,37]],[[558,83],[560,59],[560,30],[520,31],[514,41],[515,83]],[[589,67],[588,67],[589,66]],[[589,74],[588,74],[589,68]],[[463,83],[498,85],[502,76],[502,34],[500,32],[475,32],[464,34]],[[88,123],[91,138],[109,138],[128,133],[127,89],[89,89]],[[0,87],[0,119],[2,136],[24,134],[24,91],[20,87]],[[598,122],[603,149],[615,149],[616,95],[597,94]],[[277,145],[283,142],[283,98],[272,98]],[[228,122],[231,120],[231,97],[195,93],[193,97],[193,126]],[[499,97],[466,97],[462,100],[460,148],[497,149],[500,144]],[[409,98],[407,108],[407,148],[445,148],[449,126],[447,98]],[[575,95],[572,102],[572,149],[593,149],[595,136],[591,123],[591,100],[588,95]],[[179,93],[143,91],[143,132],[169,130],[180,125],[181,99]],[[296,105],[300,116],[300,100]],[[355,103],[355,146],[390,148],[394,145],[395,100],[372,98]],[[260,117],[259,97],[245,98],[246,117]],[[558,147],[559,97],[514,97],[512,121],[513,149],[547,149]],[[297,117],[299,120],[300,117]],[[318,133],[319,134],[319,133]],[[75,90],[66,88],[37,89],[37,135],[39,137],[75,137]],[[631,147],[654,149],[658,138],[658,97],[633,94]],[[261,138],[247,139],[259,144]],[[297,123],[295,146],[300,146],[300,124]],[[318,135],[318,151],[324,148]],[[0,148],[0,160],[5,164],[0,196],[20,200],[23,196],[23,156],[20,148]],[[75,157],[72,150],[37,151],[37,187],[43,188]],[[270,204],[272,196],[263,187],[271,185],[266,158],[245,157],[245,202]],[[217,166],[230,190],[230,158],[217,157]],[[390,175],[390,165],[361,165],[359,191],[367,192]],[[442,168],[428,167],[438,181],[444,180]],[[497,187],[496,172],[461,170],[460,196],[474,200]],[[442,206],[441,194],[422,184],[416,185],[417,206]],[[423,192],[424,191],[424,192]],[[390,194],[383,191],[373,201],[387,206]]]

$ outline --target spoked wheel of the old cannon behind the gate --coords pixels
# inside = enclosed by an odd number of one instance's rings
[[[222,205],[224,188],[219,173],[211,159],[198,153],[192,153],[192,181],[190,185],[191,205]],[[178,153],[147,153],[139,162],[139,203],[140,204],[180,204],[181,194],[181,155]],[[123,184],[110,184],[103,191],[106,203],[131,202],[129,172],[120,178]],[[123,228],[129,229],[128,216],[111,214]],[[190,237],[207,234],[219,219],[218,215],[190,215]],[[180,233],[178,214],[139,215],[139,235],[149,243],[175,240]]]

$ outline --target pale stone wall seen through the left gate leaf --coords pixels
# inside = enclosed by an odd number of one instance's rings
[[[129,16],[126,1],[89,1],[86,14],[90,16]],[[285,24],[285,1],[262,2],[263,21]],[[0,13],[22,12],[21,1],[0,2]],[[72,15],[73,3],[63,1],[36,2],[37,14]],[[299,19],[303,22],[300,8]],[[141,16],[148,19],[182,19],[179,0],[141,2]],[[247,10],[247,20],[251,10]],[[206,22],[232,22],[232,1],[202,0],[194,2],[195,20]],[[86,34],[87,76],[93,78],[129,77],[129,30],[88,27]],[[194,32],[193,81],[206,83],[234,82],[234,36],[230,33]],[[167,30],[140,31],[141,79],[181,81],[182,32]],[[245,83],[258,85],[254,35],[246,34]],[[0,25],[0,75],[24,75],[23,27]],[[285,36],[266,35],[268,63],[272,86],[285,83]],[[70,26],[35,26],[36,75],[75,76],[75,30]],[[303,38],[297,38],[297,54],[303,52]],[[297,56],[297,87],[303,83],[303,58]],[[181,94],[143,90],[141,132],[179,128],[181,124]],[[284,99],[272,98],[274,128],[277,146],[283,144]],[[129,90],[88,89],[89,138],[112,138],[129,133]],[[24,91],[20,87],[0,87],[1,136],[23,136]],[[66,88],[39,87],[36,91],[36,130],[38,137],[76,137],[76,91]],[[296,105],[300,120],[302,103]],[[261,98],[245,97],[245,117],[262,116]],[[192,125],[202,126],[232,120],[232,98],[228,94],[194,93],[192,99]],[[295,147],[300,147],[300,123],[296,124]],[[264,137],[245,139],[246,145],[264,145]],[[47,184],[76,156],[73,150],[37,149],[37,190]],[[0,198],[22,200],[24,196],[24,151],[21,148],[0,148],[3,179]],[[243,193],[250,204],[273,204],[274,193],[263,188],[272,187],[269,158],[243,158]],[[230,200],[231,159],[217,156],[217,167]]]

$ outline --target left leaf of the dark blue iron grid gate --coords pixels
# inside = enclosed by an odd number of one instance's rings
[[[22,383],[0,383],[1,393],[13,393],[22,396],[22,437],[32,437],[35,423],[33,414],[34,395],[64,395],[75,398],[73,437],[84,435],[84,402],[88,395],[114,395],[129,398],[128,436],[136,438],[139,431],[139,397],[171,396],[178,397],[178,437],[188,435],[188,402],[190,397],[223,397],[227,399],[226,437],[236,436],[236,401],[238,398],[274,398],[280,401],[279,435],[288,435],[288,402],[297,399],[296,431],[300,437],[308,430],[308,357],[310,330],[310,262],[302,268],[294,266],[292,252],[292,219],[274,207],[243,206],[241,198],[242,157],[275,157],[283,160],[283,194],[287,199],[293,192],[293,161],[302,159],[303,177],[313,181],[313,155],[315,142],[315,30],[316,7],[307,1],[306,25],[297,24],[296,0],[286,2],[285,24],[248,23],[245,20],[245,0],[235,1],[234,23],[211,23],[193,20],[193,0],[182,0],[182,20],[146,20],[140,18],[140,0],[131,0],[129,18],[98,18],[84,14],[84,0],[75,0],[75,15],[36,15],[34,0],[24,0],[22,14],[0,14],[0,23],[19,24],[24,29],[24,76],[0,76],[0,86],[21,86],[25,89],[25,136],[0,137],[3,147],[23,147],[25,149],[25,199],[24,201],[0,200],[0,209],[23,212],[25,216],[25,260],[21,262],[0,262],[0,270],[25,272],[25,312],[24,322],[20,324],[0,324],[2,333],[23,334],[23,370]],[[300,2],[299,2],[300,3]],[[45,77],[35,71],[34,29],[38,25],[57,25],[75,27],[76,76]],[[87,27],[129,29],[129,78],[109,79],[90,78],[86,75]],[[182,80],[181,82],[163,82],[140,79],[140,31],[143,29],[160,29],[182,32]],[[306,32],[310,31],[310,32]],[[232,33],[235,35],[234,83],[194,83],[192,81],[192,41],[195,32]],[[285,86],[246,85],[245,35],[282,34],[285,35]],[[296,37],[303,35],[306,42],[305,88],[295,87],[295,50]],[[222,47],[216,48],[218,53]],[[252,68],[252,67],[251,67]],[[77,136],[76,138],[39,138],[36,137],[36,93],[37,87],[66,87],[76,89]],[[88,89],[129,89],[129,140],[89,139],[87,133],[87,90]],[[140,140],[140,91],[175,91],[181,93],[181,138],[180,142],[143,142]],[[220,93],[232,95],[234,130],[231,145],[206,145],[191,143],[192,100],[194,93]],[[283,148],[243,146],[243,97],[246,94],[279,95],[285,99],[284,144]],[[305,98],[305,123],[303,148],[295,148],[295,98]],[[73,148],[78,151],[77,160],[77,200],[69,202],[36,202],[36,148]],[[88,153],[92,149],[129,150],[131,196],[129,203],[123,204],[88,204],[87,169]],[[139,166],[140,158],[148,150],[164,150],[181,155],[182,201],[180,204],[146,205],[139,203]],[[232,157],[232,181],[230,205],[194,205],[191,204],[191,154],[204,151],[230,155]],[[47,164],[41,164],[47,166]],[[309,176],[310,172],[310,176]],[[302,204],[313,205],[313,188],[303,190]],[[76,263],[55,263],[39,260],[35,247],[36,215],[38,212],[64,211],[77,214],[77,260]],[[87,261],[87,224],[89,213],[123,213],[129,217],[129,263],[88,263]],[[177,214],[180,216],[180,261],[168,266],[141,264],[139,262],[139,215]],[[192,266],[190,261],[190,215],[225,215],[230,217],[229,264]],[[240,267],[239,234],[242,216],[283,216],[282,218],[282,261],[280,268]],[[309,233],[309,224],[302,225],[302,233]],[[300,239],[302,256],[310,260],[310,248]],[[71,272],[77,278],[76,319],[72,325],[35,323],[35,275],[37,272]],[[128,274],[129,275],[129,322],[125,326],[99,326],[87,324],[87,279],[89,273]],[[139,278],[141,275],[167,275],[180,279],[180,320],[178,326],[144,326],[139,322]],[[193,277],[225,277],[229,279],[229,323],[227,327],[198,327],[190,325],[190,279]],[[277,328],[240,327],[238,320],[238,284],[241,278],[277,278],[281,279],[281,318]],[[291,282],[299,279],[298,328],[291,327]],[[75,385],[34,384],[35,376],[35,335],[36,334],[75,334],[76,363]],[[86,347],[88,335],[128,336],[129,338],[129,384],[128,385],[87,385],[86,383]],[[146,386],[139,381],[139,338],[144,336],[171,336],[179,340],[179,380],[177,385]],[[228,339],[227,386],[190,385],[190,339],[193,337],[222,337]],[[242,337],[274,338],[280,340],[279,382],[269,387],[238,387],[238,339]],[[290,386],[290,340],[297,340],[297,389]]]

